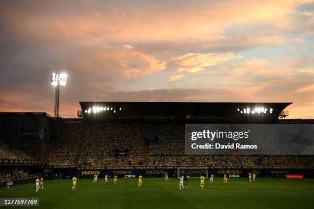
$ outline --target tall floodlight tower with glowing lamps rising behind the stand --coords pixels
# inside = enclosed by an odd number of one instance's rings
[[[65,87],[67,82],[67,74],[65,73],[52,73],[50,85],[55,86],[54,97],[54,117],[60,117],[59,115],[59,87]]]

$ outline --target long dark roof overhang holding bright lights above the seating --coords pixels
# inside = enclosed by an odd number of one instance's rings
[[[265,108],[269,114],[263,118],[275,119],[292,102],[130,102],[130,101],[80,101],[83,118],[108,118],[108,116],[125,117],[127,115],[156,116],[174,115],[196,118],[196,116],[213,116],[217,118],[257,117],[258,115],[242,114],[240,110]],[[106,111],[93,112],[92,109],[106,107]],[[269,110],[271,110],[271,113]],[[89,113],[88,113],[88,110]],[[108,111],[111,110],[111,111]],[[240,113],[241,112],[241,113]],[[244,111],[243,111],[244,112]],[[106,116],[105,116],[106,115]],[[259,115],[261,116],[261,115]]]

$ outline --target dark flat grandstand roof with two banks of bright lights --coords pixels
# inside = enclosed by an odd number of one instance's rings
[[[83,118],[114,120],[210,119],[239,121],[242,119],[243,121],[272,121],[278,120],[279,114],[290,104],[291,102],[80,102]],[[95,108],[95,112],[93,108]],[[264,108],[267,109],[267,112],[245,114],[244,109],[247,108],[250,110]],[[272,109],[271,113],[270,109]]]

